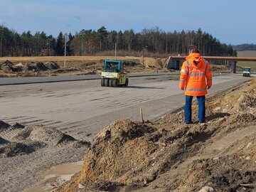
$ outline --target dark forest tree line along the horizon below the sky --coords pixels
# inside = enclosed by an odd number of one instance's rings
[[[0,57],[64,55],[65,42],[66,55],[95,55],[114,50],[115,47],[124,53],[186,55],[191,45],[198,46],[202,55],[237,55],[231,45],[220,43],[201,28],[197,31],[166,32],[155,27],[136,33],[132,29],[107,31],[102,26],[97,31],[82,29],[74,35],[60,32],[55,38],[47,36],[45,32],[31,34],[31,31],[27,31],[19,34],[6,26],[0,26]]]

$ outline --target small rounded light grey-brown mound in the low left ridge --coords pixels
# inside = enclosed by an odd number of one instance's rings
[[[19,132],[14,139],[29,139],[33,142],[43,142],[48,145],[67,144],[68,142],[75,141],[75,139],[68,134],[63,134],[57,129],[48,127],[26,127]]]

